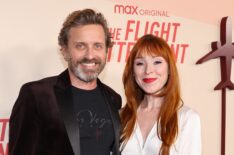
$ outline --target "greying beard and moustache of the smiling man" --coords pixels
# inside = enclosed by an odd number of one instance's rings
[[[76,62],[72,61],[71,57],[67,59],[68,67],[73,74],[81,81],[91,82],[96,80],[98,75],[103,70],[106,62],[103,62],[100,58],[83,58]],[[86,67],[88,65],[95,64],[95,68],[91,69]]]

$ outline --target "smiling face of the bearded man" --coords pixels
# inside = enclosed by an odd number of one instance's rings
[[[100,25],[73,27],[68,45],[62,48],[68,68],[79,80],[96,80],[106,63],[105,33]]]

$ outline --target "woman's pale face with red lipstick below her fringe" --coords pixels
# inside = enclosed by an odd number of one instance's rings
[[[136,57],[133,73],[137,84],[147,94],[157,94],[168,79],[168,63],[161,56],[143,55]]]

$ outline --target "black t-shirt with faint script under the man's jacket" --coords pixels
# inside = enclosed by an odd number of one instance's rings
[[[80,130],[81,155],[110,155],[114,131],[108,107],[99,87],[72,87],[74,110]]]

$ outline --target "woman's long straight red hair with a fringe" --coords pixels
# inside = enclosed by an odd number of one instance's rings
[[[132,135],[137,118],[137,108],[144,98],[144,91],[137,85],[133,76],[134,60],[136,56],[143,54],[162,56],[169,66],[168,81],[162,91],[157,94],[158,97],[164,97],[157,118],[157,135],[162,141],[160,155],[169,155],[170,147],[178,135],[177,112],[181,103],[179,77],[174,52],[166,41],[150,34],[144,35],[136,42],[124,69],[123,85],[127,103],[120,114],[122,123],[121,142],[124,146]]]

